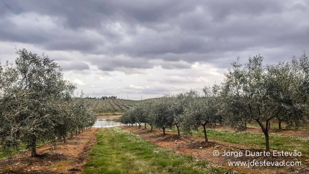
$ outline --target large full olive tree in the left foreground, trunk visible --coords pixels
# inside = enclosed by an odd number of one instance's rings
[[[18,142],[15,146],[23,142],[32,150],[31,156],[36,156],[36,143],[54,138],[53,117],[59,114],[56,101],[62,97],[64,80],[61,68],[47,56],[41,58],[25,49],[16,53],[12,68],[18,79],[4,91],[10,102],[3,113],[5,120],[12,120],[9,127]]]

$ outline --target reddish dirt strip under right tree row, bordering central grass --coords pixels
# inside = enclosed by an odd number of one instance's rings
[[[223,157],[219,155],[215,157],[213,155],[214,150],[218,150],[219,152],[226,151],[237,151],[243,152],[245,154],[245,150],[250,151],[260,151],[255,149],[254,147],[237,145],[232,143],[226,143],[222,141],[211,141],[211,143],[205,143],[204,139],[201,137],[191,137],[191,136],[182,136],[178,137],[175,133],[167,132],[167,135],[163,136],[161,130],[150,131],[148,129],[138,129],[135,127],[127,127],[127,126],[119,126],[125,130],[129,130],[132,133],[140,135],[142,138],[156,143],[160,146],[164,146],[170,148],[176,152],[193,155],[200,159],[208,160],[214,164],[218,164],[225,169],[231,171],[238,171],[240,173],[267,173],[267,174],[287,174],[287,173],[309,173],[309,156],[307,154],[302,154],[301,157],[251,157],[251,156],[243,156],[243,157]],[[229,166],[228,161],[248,161],[256,159],[257,161],[301,161],[301,167],[240,167],[240,166]]]

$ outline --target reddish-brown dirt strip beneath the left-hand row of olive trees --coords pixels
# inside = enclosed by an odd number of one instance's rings
[[[11,159],[0,161],[0,174],[6,173],[78,173],[83,169],[87,152],[95,144],[98,128],[90,128],[73,138],[67,144],[57,142],[57,146],[47,143],[36,152],[38,158],[30,157],[30,152],[14,155]]]

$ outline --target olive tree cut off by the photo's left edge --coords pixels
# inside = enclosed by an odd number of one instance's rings
[[[20,141],[19,131],[14,131],[19,127],[20,118],[16,115],[22,111],[26,101],[20,99],[25,95],[24,91],[19,90],[16,85],[18,73],[13,65],[6,62],[4,65],[0,62],[0,145],[1,150],[11,154],[11,147],[16,147]]]

